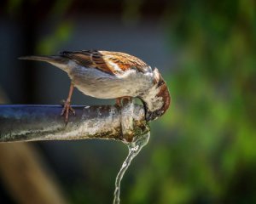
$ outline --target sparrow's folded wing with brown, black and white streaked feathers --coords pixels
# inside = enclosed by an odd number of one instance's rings
[[[82,50],[77,52],[64,51],[61,56],[72,59],[79,65],[96,68],[108,74],[121,74],[126,70],[135,69],[140,72],[148,71],[149,66],[143,60],[130,54],[97,50]]]

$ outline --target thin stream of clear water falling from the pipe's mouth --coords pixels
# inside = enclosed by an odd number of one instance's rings
[[[120,184],[121,184],[121,180],[125,174],[125,171],[130,166],[131,161],[134,159],[134,157],[137,156],[137,154],[140,152],[140,150],[143,149],[143,146],[148,144],[149,137],[150,137],[150,132],[137,136],[137,138],[134,139],[134,141],[127,144],[129,153],[128,153],[128,156],[126,157],[125,161],[123,162],[123,165],[119,170],[119,173],[117,174],[117,176],[115,178],[115,190],[113,193],[113,196],[114,196],[113,204],[119,204],[119,202],[120,202],[120,197],[119,197],[120,196]]]

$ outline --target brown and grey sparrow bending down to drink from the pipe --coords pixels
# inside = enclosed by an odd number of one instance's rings
[[[121,105],[122,99],[137,97],[143,101],[147,122],[162,116],[171,103],[166,82],[157,68],[130,54],[82,50],[64,51],[59,55],[25,56],[19,59],[46,61],[67,72],[71,79],[69,94],[61,115],[68,120],[73,88],[99,99],[116,99]]]

